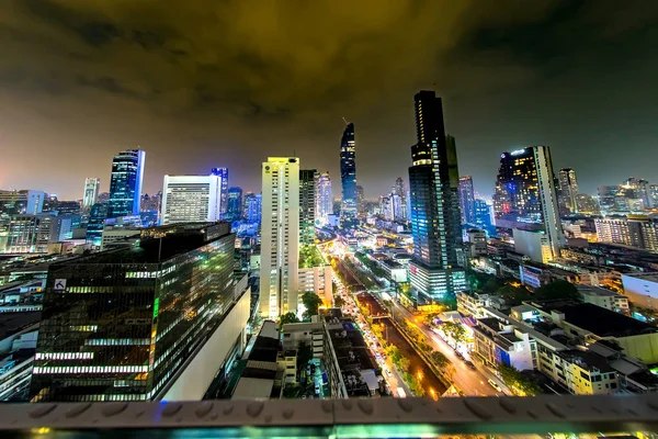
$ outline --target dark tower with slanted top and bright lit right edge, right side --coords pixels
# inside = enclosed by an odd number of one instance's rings
[[[508,236],[514,228],[544,233],[552,257],[559,257],[564,234],[547,146],[531,146],[500,156],[494,209],[499,232]]]

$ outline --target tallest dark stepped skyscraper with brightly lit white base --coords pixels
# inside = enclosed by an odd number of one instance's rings
[[[423,90],[415,97],[418,143],[409,168],[413,258],[411,286],[431,300],[465,289],[458,169],[454,137],[445,135],[441,98]]]

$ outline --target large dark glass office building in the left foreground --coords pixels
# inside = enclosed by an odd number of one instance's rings
[[[32,401],[201,399],[243,342],[234,243],[228,224],[162,226],[50,264]]]

